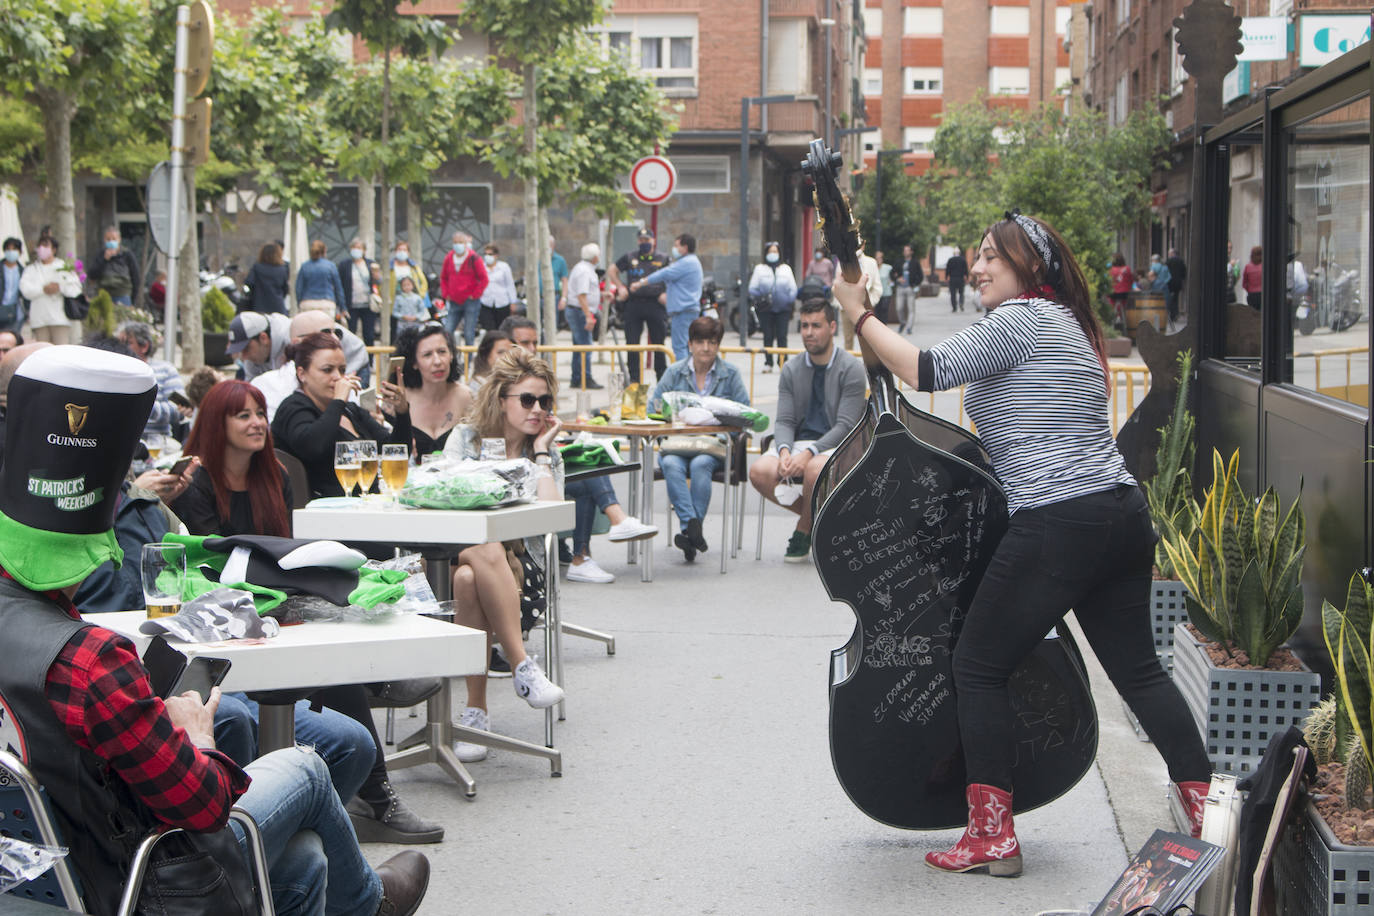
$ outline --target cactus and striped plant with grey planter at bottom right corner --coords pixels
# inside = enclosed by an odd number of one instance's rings
[[[1336,692],[1303,725],[1318,776],[1274,856],[1279,912],[1369,913],[1374,905],[1374,589],[1367,573],[1351,577],[1344,610],[1322,603]]]

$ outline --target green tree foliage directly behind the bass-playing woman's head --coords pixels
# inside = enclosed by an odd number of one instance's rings
[[[947,238],[960,244],[977,243],[1009,209],[1043,218],[1068,242],[1096,297],[1116,233],[1150,217],[1150,172],[1168,143],[1153,110],[1107,125],[1101,111],[989,110],[977,99],[948,110],[936,132],[927,199]]]

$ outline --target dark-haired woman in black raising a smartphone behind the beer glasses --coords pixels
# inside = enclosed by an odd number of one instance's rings
[[[284,452],[305,466],[311,496],[344,496],[334,475],[334,445],[354,439],[411,442],[409,400],[405,390],[387,380],[378,382],[379,407],[389,419],[387,430],[349,397],[360,385],[349,375],[338,338],[327,331],[309,334],[286,347],[295,365],[300,389],[290,394],[272,419],[272,438]]]

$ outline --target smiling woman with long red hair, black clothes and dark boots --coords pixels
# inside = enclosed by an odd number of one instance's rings
[[[172,500],[170,507],[191,534],[291,536],[291,481],[282,472],[272,450],[267,398],[258,389],[238,380],[220,382],[210,389],[201,401],[185,450],[198,456],[199,467],[190,486]],[[231,694],[225,699],[249,706],[250,714],[257,718],[256,703],[247,696]],[[319,703],[342,713],[371,735],[367,757],[372,766],[357,795],[344,799],[359,842],[437,843],[444,839],[444,828],[415,814],[392,787],[367,689],[361,684],[327,687],[301,703]],[[311,728],[330,729],[327,718],[316,721],[298,713],[298,725],[304,724],[306,729],[300,735],[301,740],[315,743],[308,731]],[[327,742],[335,736],[319,737]]]

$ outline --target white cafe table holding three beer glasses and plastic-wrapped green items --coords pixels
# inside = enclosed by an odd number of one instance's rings
[[[295,509],[293,512],[294,536],[328,538],[352,544],[386,544],[389,547],[415,548],[426,560],[425,574],[434,589],[434,596],[441,602],[449,600],[453,596],[453,584],[449,571],[455,548],[467,544],[544,537],[545,553],[554,558],[556,556],[552,542],[554,533],[573,527],[577,520],[570,500],[540,500],[493,509],[414,509],[363,499],[356,500],[356,507],[341,507],[338,500],[330,500],[328,508],[312,508],[306,505],[302,509]],[[548,574],[548,570],[545,570],[544,659],[548,674],[561,683],[563,674],[562,654],[559,652],[558,567],[552,563],[548,566],[552,574]],[[484,662],[482,667],[467,673],[480,674],[485,670]],[[419,673],[412,673],[405,677],[419,676]],[[440,694],[445,698],[444,702],[447,705],[448,691],[440,691]],[[452,717],[448,713],[449,710],[445,709],[445,715],[438,722],[440,733],[447,739],[441,751],[436,751],[431,735],[425,739],[427,746],[401,750],[387,757],[387,765],[411,766],[423,762],[438,762],[434,759],[434,754],[440,753],[444,755],[444,761],[447,761],[444,769],[451,773],[456,769],[462,773],[462,776],[455,776],[455,779],[467,787],[467,794],[471,797],[471,777],[452,754],[452,742],[462,739],[474,744],[485,744],[518,754],[547,758],[552,775],[562,775],[562,755],[554,747],[555,709],[544,710],[544,747],[493,732],[453,725]],[[426,729],[433,729],[434,725],[434,713],[431,710],[430,725]],[[403,740],[400,747],[407,748],[412,740],[414,736]]]

